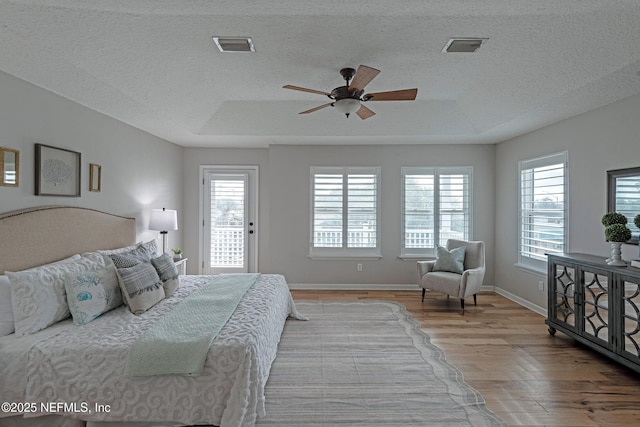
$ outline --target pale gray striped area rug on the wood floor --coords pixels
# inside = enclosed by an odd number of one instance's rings
[[[257,426],[506,426],[401,304],[296,302]],[[469,349],[473,351],[473,349]]]

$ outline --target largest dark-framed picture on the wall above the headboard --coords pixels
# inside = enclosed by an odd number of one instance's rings
[[[80,153],[36,144],[36,196],[80,197]]]

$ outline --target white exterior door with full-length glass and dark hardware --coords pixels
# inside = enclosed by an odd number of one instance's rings
[[[257,271],[258,168],[203,167],[202,274]]]

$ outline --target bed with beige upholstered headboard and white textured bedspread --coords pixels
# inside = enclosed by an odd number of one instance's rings
[[[135,220],[41,207],[0,215],[0,236],[0,272],[16,271],[135,246]],[[264,414],[264,387],[284,323],[301,318],[281,275],[257,276],[208,347],[200,375],[125,375],[127,354],[139,337],[212,279],[180,276],[170,297],[139,315],[121,305],[82,326],[74,317],[0,337],[0,402],[14,403],[0,412],[0,424],[255,424]]]

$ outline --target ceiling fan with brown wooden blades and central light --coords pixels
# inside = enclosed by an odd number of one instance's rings
[[[380,70],[360,65],[358,71],[353,68],[343,68],[340,74],[347,82],[345,86],[339,86],[331,92],[307,89],[300,86],[285,85],[284,89],[299,90],[302,92],[317,93],[326,95],[332,101],[310,110],[302,111],[299,114],[309,114],[321,110],[325,107],[335,107],[338,111],[349,115],[356,113],[362,120],[374,116],[376,113],[365,107],[362,103],[367,101],[413,101],[416,99],[418,89],[402,89],[389,92],[364,93],[364,87],[373,80]]]

